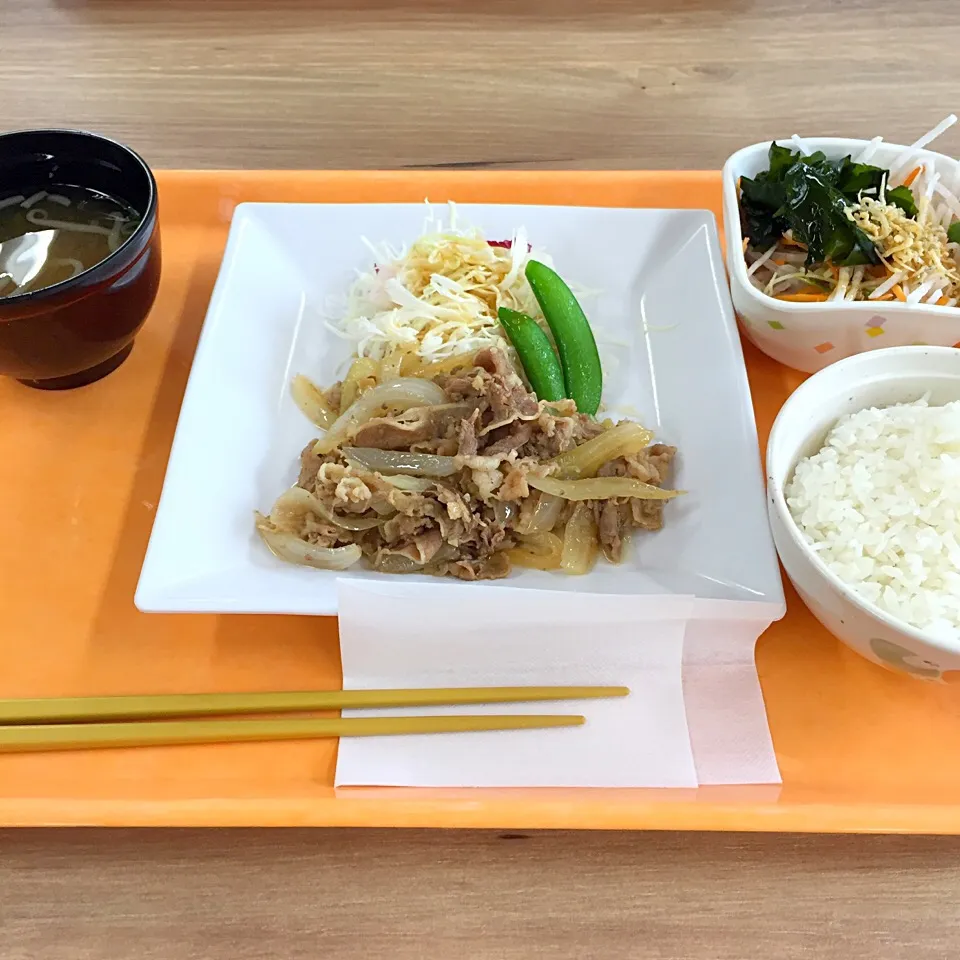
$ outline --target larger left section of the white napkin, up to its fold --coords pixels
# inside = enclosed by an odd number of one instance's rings
[[[583,713],[587,723],[553,730],[348,737],[340,741],[337,785],[696,786],[682,689],[690,601],[550,593],[545,602],[540,591],[531,590],[342,580],[345,687],[618,684],[630,687],[631,694],[430,708],[430,713]]]

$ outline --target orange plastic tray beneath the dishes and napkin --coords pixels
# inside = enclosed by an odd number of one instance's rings
[[[130,359],[82,390],[0,381],[0,696],[336,688],[337,623],[133,606],[194,346],[244,200],[707,207],[718,173],[161,174],[164,273]],[[761,444],[803,379],[745,345]],[[185,532],[185,544],[188,534]],[[956,687],[875,667],[788,591],[757,662],[782,788],[334,789],[336,744],[0,756],[0,825],[960,833]]]

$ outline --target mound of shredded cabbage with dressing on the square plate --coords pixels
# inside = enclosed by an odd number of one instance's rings
[[[501,245],[505,240],[509,246]],[[405,349],[436,362],[484,347],[503,349],[499,307],[541,317],[524,269],[530,258],[552,260],[531,249],[523,228],[509,238],[484,237],[457,226],[451,203],[449,223],[431,213],[423,236],[407,249],[365,242],[375,262],[354,283],[343,316],[330,321],[359,357],[382,360]]]

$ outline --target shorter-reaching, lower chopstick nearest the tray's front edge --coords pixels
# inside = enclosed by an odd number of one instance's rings
[[[582,716],[357,717],[346,720],[159,720],[0,726],[0,753],[159,747],[188,743],[382,737],[415,733],[576,727]]]

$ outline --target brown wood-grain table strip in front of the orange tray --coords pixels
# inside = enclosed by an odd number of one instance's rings
[[[5,960],[926,960],[960,839],[0,833]]]

